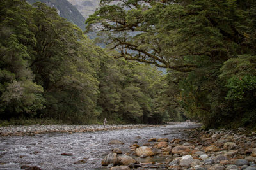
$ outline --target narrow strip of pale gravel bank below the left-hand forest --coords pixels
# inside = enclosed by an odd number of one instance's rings
[[[116,129],[138,129],[163,125],[11,125],[0,127],[0,136],[26,136],[45,133],[84,133]]]

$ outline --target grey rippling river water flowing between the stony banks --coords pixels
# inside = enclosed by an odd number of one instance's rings
[[[0,136],[0,169],[20,169],[22,165],[61,170],[102,169],[101,160],[115,147],[125,153],[131,144],[138,143],[141,146],[153,137],[184,139],[186,133],[183,130],[194,127],[198,127],[198,124],[173,123],[161,127],[75,134]],[[113,139],[124,142],[124,145],[109,145]],[[65,156],[62,153],[72,155]],[[79,160],[86,160],[86,163],[74,164]],[[157,161],[164,162],[163,159]]]

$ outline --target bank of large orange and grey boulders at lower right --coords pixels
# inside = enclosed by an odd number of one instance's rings
[[[150,139],[144,139],[143,145],[131,144],[129,154],[109,153],[102,160],[102,165],[111,170],[134,167],[173,170],[256,170],[255,132],[248,133],[242,128],[209,131],[184,129],[184,131],[189,138],[170,140],[152,136]],[[165,161],[157,162],[161,158]],[[118,166],[113,167],[114,164]]]

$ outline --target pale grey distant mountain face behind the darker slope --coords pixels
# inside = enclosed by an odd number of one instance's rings
[[[83,15],[84,18],[88,18],[92,15],[96,8],[99,6],[100,0],[68,0],[77,10]]]

